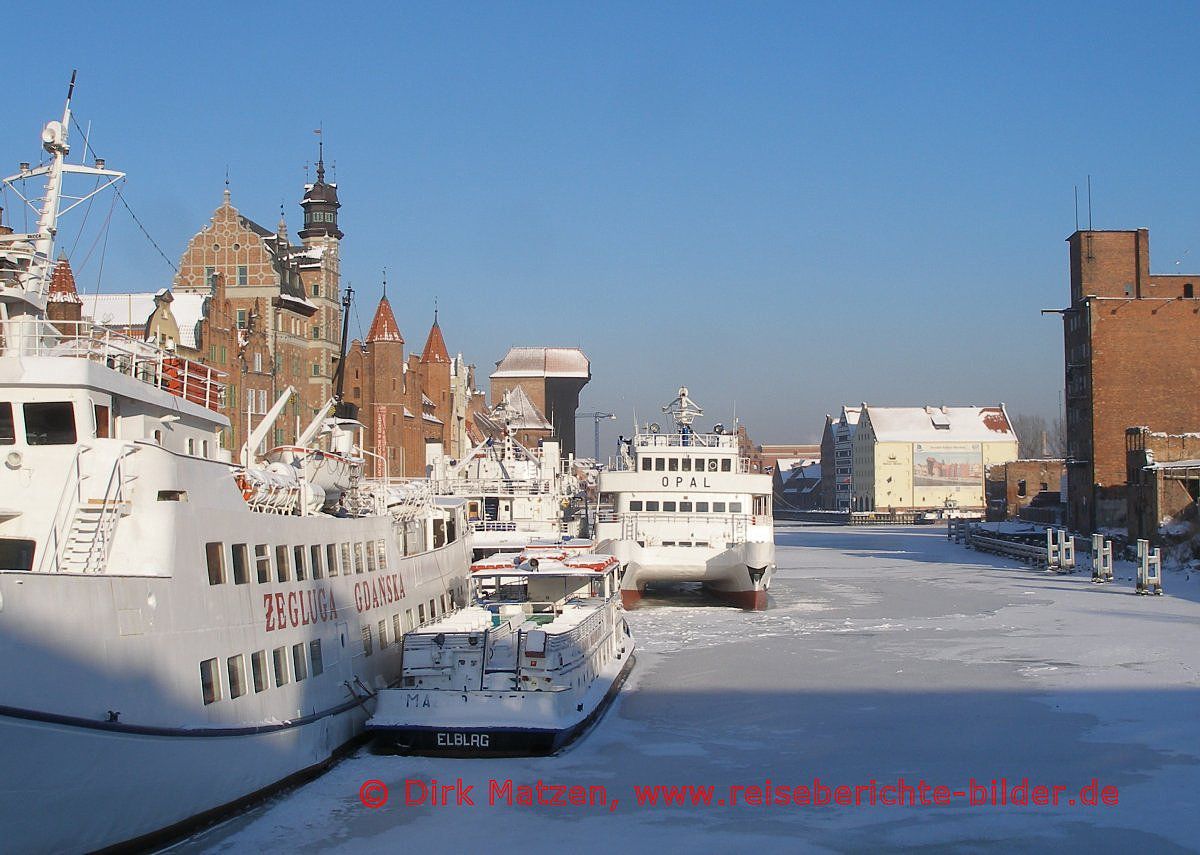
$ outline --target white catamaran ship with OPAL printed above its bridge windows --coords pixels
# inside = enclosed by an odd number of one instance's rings
[[[749,472],[736,434],[692,429],[703,415],[688,389],[662,408],[676,430],[638,429],[600,473],[596,551],[624,568],[625,608],[647,584],[703,582],[743,609],[766,609],[775,572],[770,476]]]

